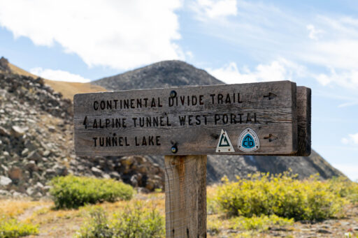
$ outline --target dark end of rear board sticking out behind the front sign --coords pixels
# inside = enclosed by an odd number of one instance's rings
[[[293,156],[310,156],[311,90],[297,87],[298,151]]]

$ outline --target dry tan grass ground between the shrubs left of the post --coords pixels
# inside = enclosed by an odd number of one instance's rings
[[[164,198],[164,193],[138,193],[130,201],[103,202],[80,209],[64,210],[53,209],[55,204],[51,201],[0,200],[0,214],[39,225],[40,233],[29,237],[73,237],[94,207],[103,207],[108,214],[112,214],[141,201],[144,202],[145,207],[156,208],[162,216],[165,216]]]

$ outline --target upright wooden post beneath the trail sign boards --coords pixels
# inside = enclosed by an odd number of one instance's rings
[[[164,158],[166,238],[206,237],[206,157]]]

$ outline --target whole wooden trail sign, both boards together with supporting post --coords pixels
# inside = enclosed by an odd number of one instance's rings
[[[76,94],[78,156],[165,156],[166,237],[206,237],[206,155],[310,154],[310,89],[289,81]]]

